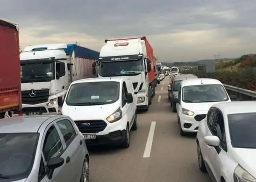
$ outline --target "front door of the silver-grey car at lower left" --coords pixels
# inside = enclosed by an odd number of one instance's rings
[[[56,168],[54,170],[54,173],[52,175],[52,179],[48,179],[48,176],[45,175],[42,177],[42,182],[70,182],[71,176],[69,175],[70,171],[72,171],[70,163],[67,161],[67,158],[69,157],[69,153],[64,149],[63,143],[61,141],[61,137],[59,136],[59,133],[55,127],[54,124],[49,125],[44,134],[43,134],[43,144],[41,146],[42,150],[42,160],[46,169],[47,169],[47,162],[52,157],[60,156],[65,161],[64,164]],[[41,167],[41,170],[42,167]]]

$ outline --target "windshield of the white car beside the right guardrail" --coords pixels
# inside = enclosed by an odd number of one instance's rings
[[[228,101],[228,95],[220,84],[184,86],[182,100],[187,103]]]

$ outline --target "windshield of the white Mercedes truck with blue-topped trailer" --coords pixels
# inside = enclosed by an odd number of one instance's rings
[[[54,63],[21,64],[21,82],[42,82],[54,79]]]

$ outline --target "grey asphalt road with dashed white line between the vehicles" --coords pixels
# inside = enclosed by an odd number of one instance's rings
[[[179,134],[170,109],[166,77],[148,112],[138,115],[130,147],[90,147],[90,182],[211,182],[199,171],[195,135]]]

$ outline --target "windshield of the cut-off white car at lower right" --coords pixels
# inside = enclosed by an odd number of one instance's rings
[[[228,115],[231,144],[234,148],[256,149],[256,113]]]

